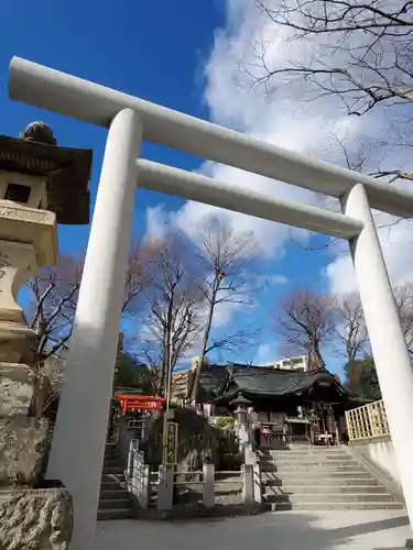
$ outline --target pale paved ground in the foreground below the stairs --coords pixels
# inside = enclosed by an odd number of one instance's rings
[[[185,521],[99,521],[96,550],[402,550],[405,515],[284,512]]]

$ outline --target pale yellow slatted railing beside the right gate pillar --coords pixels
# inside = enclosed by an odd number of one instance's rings
[[[346,422],[350,441],[390,436],[382,399],[346,411]]]

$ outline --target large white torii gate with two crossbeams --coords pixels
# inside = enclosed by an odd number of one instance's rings
[[[10,65],[9,94],[109,129],[47,472],[74,498],[70,549],[94,546],[137,183],[349,240],[413,527],[413,371],[370,211],[412,218],[413,193],[18,57]],[[142,140],[337,197],[343,213],[137,161]]]

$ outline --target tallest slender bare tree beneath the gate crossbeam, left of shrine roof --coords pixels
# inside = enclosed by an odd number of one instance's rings
[[[205,302],[205,328],[202,351],[195,372],[192,400],[196,400],[203,365],[213,350],[232,351],[257,337],[257,329],[235,330],[222,338],[213,338],[217,308],[225,305],[251,306],[257,288],[248,280],[247,268],[253,261],[258,243],[251,232],[236,233],[224,217],[204,220],[199,231],[202,265],[200,293]]]

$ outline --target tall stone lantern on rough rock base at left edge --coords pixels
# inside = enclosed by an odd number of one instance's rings
[[[34,122],[20,139],[0,136],[0,549],[64,550],[73,505],[44,481],[52,426],[42,417],[37,334],[18,292],[57,260],[57,223],[89,222],[91,151],[59,147]]]

